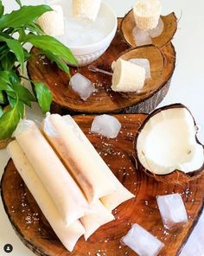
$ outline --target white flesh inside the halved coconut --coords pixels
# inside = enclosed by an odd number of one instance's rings
[[[137,138],[137,157],[157,175],[174,170],[188,173],[201,169],[203,146],[196,141],[194,118],[185,107],[162,110],[143,126]]]

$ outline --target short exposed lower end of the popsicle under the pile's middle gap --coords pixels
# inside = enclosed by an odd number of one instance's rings
[[[99,227],[115,220],[112,213],[105,208],[103,203],[100,201],[94,202],[91,209],[95,214],[86,214],[80,218],[80,222],[86,230],[86,234],[84,234],[85,240],[87,240]]]

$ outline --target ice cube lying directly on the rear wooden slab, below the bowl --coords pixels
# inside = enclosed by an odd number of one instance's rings
[[[97,91],[92,82],[80,73],[72,76],[70,86],[72,86],[73,91],[78,93],[80,98],[85,101],[92,95],[92,93]]]

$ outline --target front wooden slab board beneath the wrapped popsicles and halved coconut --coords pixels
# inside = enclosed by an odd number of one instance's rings
[[[30,195],[12,161],[5,168],[1,193],[3,205],[22,242],[37,255],[43,256],[124,256],[137,255],[119,240],[138,223],[165,244],[160,255],[178,255],[188,239],[201,214],[204,199],[204,176],[180,185],[156,182],[147,176],[135,163],[133,141],[138,128],[143,124],[144,114],[116,115],[122,124],[118,138],[108,139],[90,132],[93,116],[78,116],[74,119],[85,131],[87,137],[110,165],[120,182],[136,197],[124,202],[113,211],[116,221],[100,227],[89,240],[80,238],[73,253],[67,252],[54,234],[48,221],[41,214],[34,198]],[[37,189],[37,188],[36,188]],[[166,230],[156,206],[156,195],[181,193],[188,211],[188,224],[185,227]],[[68,196],[68,195],[67,195]]]

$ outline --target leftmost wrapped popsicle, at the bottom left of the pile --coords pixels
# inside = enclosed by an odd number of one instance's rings
[[[50,226],[54,229],[54,233],[67,250],[72,252],[77,240],[79,240],[82,234],[85,234],[84,227],[81,225],[80,221],[74,221],[70,226],[65,225],[53,200],[43,187],[40,178],[35,174],[35,170],[22,152],[20,145],[16,141],[12,141],[8,145],[7,150],[10,157],[13,159],[16,169],[22,176],[22,180],[34,196],[35,201],[41,208]]]

